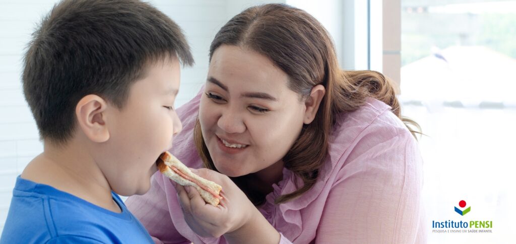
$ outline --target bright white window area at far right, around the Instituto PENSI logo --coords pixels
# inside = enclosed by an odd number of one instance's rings
[[[429,243],[513,239],[515,40],[516,1],[401,0],[399,99],[428,135]],[[469,215],[454,214],[461,200]],[[492,220],[493,233],[431,233],[432,220]]]

